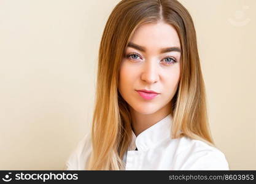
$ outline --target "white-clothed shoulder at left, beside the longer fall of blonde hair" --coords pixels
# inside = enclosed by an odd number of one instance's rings
[[[78,142],[76,148],[72,150],[65,163],[66,170],[85,170],[85,165],[91,153],[90,133],[85,134]]]

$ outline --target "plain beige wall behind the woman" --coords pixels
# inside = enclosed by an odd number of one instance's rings
[[[101,34],[117,0],[0,0],[0,169],[63,169],[89,131]],[[256,1],[180,0],[198,36],[215,143],[256,169]]]

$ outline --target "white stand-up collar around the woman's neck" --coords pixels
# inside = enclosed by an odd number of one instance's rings
[[[129,150],[147,150],[151,147],[155,147],[163,140],[171,139],[171,125],[173,123],[173,117],[171,113],[162,120],[158,121],[154,125],[145,129],[137,137],[132,131],[132,141],[128,147]]]

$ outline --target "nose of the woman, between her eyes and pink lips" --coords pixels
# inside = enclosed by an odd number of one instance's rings
[[[159,80],[157,61],[145,61],[141,79],[147,83],[155,83]]]

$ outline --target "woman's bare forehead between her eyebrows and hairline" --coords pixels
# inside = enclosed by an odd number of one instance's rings
[[[176,29],[162,21],[139,26],[131,36],[130,42],[145,48],[180,47]]]

